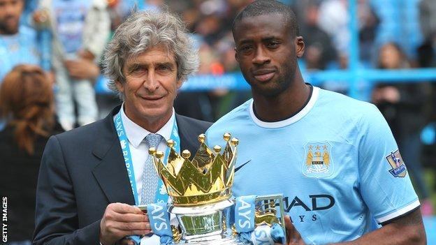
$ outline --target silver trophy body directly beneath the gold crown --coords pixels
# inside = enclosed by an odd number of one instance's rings
[[[175,244],[245,244],[235,237],[230,221],[231,200],[198,207],[170,206],[180,223],[182,237]]]

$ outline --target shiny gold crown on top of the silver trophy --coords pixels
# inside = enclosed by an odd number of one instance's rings
[[[153,156],[154,167],[165,184],[173,205],[180,207],[199,206],[231,197],[231,186],[235,175],[236,146],[238,139],[231,139],[230,133],[224,133],[226,147],[216,145],[211,150],[205,144],[205,135],[198,136],[200,147],[189,160],[191,153],[185,149],[180,156],[174,149],[174,141],[168,140],[170,147],[168,163],[163,164],[163,152],[154,147],[149,149]]]

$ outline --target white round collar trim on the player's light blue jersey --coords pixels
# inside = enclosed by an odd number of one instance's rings
[[[250,113],[250,116],[252,117],[254,123],[263,127],[263,128],[281,128],[281,127],[288,126],[288,125],[291,125],[291,124],[299,121],[307,113],[309,113],[310,109],[312,109],[312,107],[315,105],[315,102],[317,102],[318,95],[319,95],[319,87],[313,87],[312,96],[310,97],[310,100],[307,103],[307,105],[305,107],[303,107],[303,109],[301,109],[300,112],[293,115],[293,117],[290,117],[290,118],[285,119],[283,121],[266,122],[266,121],[259,120],[256,117],[256,115],[254,114],[253,101],[249,105],[249,113]]]

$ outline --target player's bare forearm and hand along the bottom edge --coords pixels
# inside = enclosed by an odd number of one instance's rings
[[[291,220],[285,218],[287,245],[305,244],[300,233],[293,227]],[[421,218],[421,211],[391,221],[382,228],[369,232],[351,242],[340,242],[331,245],[421,245],[427,244],[426,232]]]

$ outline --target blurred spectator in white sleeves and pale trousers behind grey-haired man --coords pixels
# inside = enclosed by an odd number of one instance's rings
[[[105,0],[43,0],[52,29],[52,66],[59,87],[57,112],[65,130],[75,126],[74,101],[82,126],[98,117],[87,66],[98,61],[108,40],[110,19]]]

